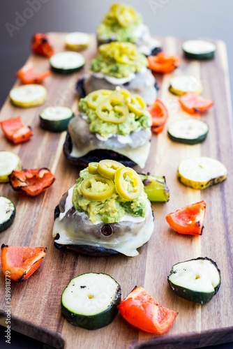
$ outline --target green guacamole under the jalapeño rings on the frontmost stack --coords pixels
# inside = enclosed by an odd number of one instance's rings
[[[77,179],[73,188],[72,202],[75,209],[87,214],[92,223],[99,221],[103,221],[104,223],[117,223],[121,221],[121,218],[123,218],[125,214],[134,217],[145,217],[146,202],[148,199],[144,191],[133,201],[123,200],[115,189],[111,198],[105,201],[91,201],[84,198],[80,188],[81,183],[85,178],[91,175],[88,168],[84,168],[84,170],[80,171],[80,177]]]

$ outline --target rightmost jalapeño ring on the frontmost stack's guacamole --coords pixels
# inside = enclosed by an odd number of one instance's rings
[[[142,180],[133,168],[118,168],[115,186],[117,193],[126,201],[135,200],[143,191]]]

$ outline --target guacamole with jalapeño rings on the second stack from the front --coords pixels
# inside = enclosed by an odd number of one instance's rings
[[[118,87],[116,91],[98,90],[81,98],[78,110],[87,117],[89,131],[104,139],[111,135],[127,136],[152,124],[142,97]]]

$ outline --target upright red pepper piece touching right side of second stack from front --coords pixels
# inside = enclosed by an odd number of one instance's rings
[[[151,131],[153,133],[162,132],[168,118],[168,110],[165,104],[157,98],[155,103],[147,108],[147,110],[152,118]]]

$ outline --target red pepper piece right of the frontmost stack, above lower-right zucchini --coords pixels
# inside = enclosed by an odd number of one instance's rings
[[[179,234],[202,235],[205,214],[206,202],[202,200],[167,214],[166,221]]]

